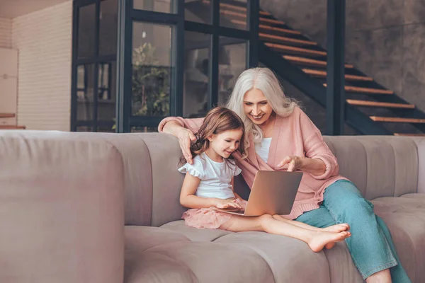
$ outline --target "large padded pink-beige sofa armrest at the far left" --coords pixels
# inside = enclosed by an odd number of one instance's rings
[[[123,193],[105,141],[0,132],[0,282],[123,282]]]

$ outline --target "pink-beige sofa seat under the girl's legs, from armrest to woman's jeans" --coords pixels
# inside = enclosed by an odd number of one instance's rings
[[[345,243],[314,253],[293,238],[184,221],[126,226],[125,239],[125,282],[363,282]]]

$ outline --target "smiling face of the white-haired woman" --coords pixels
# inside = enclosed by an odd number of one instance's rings
[[[245,93],[244,112],[254,124],[261,125],[268,120],[273,109],[268,104],[264,93],[257,88],[252,88]]]

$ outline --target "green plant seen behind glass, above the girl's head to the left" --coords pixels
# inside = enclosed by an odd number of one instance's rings
[[[159,60],[155,57],[155,47],[150,43],[133,50],[132,115],[169,115],[169,68],[159,65]]]

